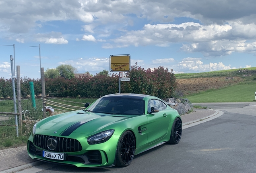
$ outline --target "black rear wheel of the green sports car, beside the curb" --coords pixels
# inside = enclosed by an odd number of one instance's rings
[[[171,127],[171,136],[168,141],[169,144],[178,144],[182,136],[182,121],[176,118]]]

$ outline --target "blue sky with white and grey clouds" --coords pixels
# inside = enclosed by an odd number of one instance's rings
[[[0,44],[15,44],[21,77],[70,64],[109,70],[109,56],[174,73],[255,67],[256,3],[247,0],[0,0]],[[0,46],[10,78],[13,46]],[[16,69],[16,68],[15,68]]]

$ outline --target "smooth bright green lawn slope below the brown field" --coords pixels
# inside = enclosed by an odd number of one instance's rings
[[[252,102],[256,84],[239,84],[186,97],[192,103]]]

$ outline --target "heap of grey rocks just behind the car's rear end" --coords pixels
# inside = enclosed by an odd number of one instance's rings
[[[173,109],[176,109],[180,115],[184,115],[189,111],[193,111],[193,105],[188,99],[179,99],[179,98],[169,98],[165,99],[167,103],[177,103],[177,106],[171,106]]]

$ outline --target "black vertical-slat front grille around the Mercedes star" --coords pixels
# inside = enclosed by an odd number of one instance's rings
[[[54,138],[57,141],[56,149],[50,150],[50,151],[55,151],[55,152],[82,151],[81,143],[78,140],[71,139],[71,138],[53,137],[53,136],[47,136],[47,135],[35,135],[33,143],[35,146],[49,151],[47,147],[47,140],[49,138]]]

